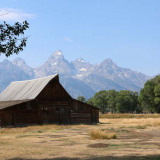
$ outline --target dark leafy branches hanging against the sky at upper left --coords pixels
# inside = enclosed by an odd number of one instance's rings
[[[8,57],[23,51],[27,37],[22,37],[22,35],[27,28],[29,28],[27,21],[22,24],[16,22],[14,25],[9,25],[6,22],[0,24],[0,54]]]

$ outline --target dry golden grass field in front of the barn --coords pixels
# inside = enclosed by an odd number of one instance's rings
[[[98,134],[96,138],[92,137],[93,131]],[[105,138],[106,135],[114,136]],[[97,125],[2,128],[0,160],[5,159],[159,160],[160,116],[117,118],[115,115],[115,118],[101,118]]]

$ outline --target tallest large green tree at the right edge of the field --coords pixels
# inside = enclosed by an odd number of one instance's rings
[[[160,113],[160,75],[145,83],[139,101],[144,112]]]

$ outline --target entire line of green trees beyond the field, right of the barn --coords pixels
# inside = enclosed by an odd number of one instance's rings
[[[100,108],[102,113],[160,113],[160,75],[148,80],[140,94],[129,90],[102,90],[92,98],[80,101]]]

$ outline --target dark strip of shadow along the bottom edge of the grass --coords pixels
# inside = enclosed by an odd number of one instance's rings
[[[100,157],[90,157],[83,158],[84,160],[160,160],[160,155],[150,155],[150,156],[100,156]],[[60,158],[44,158],[44,159],[25,159],[25,158],[11,158],[8,160],[82,160],[82,158],[68,158],[68,157],[60,157]]]

